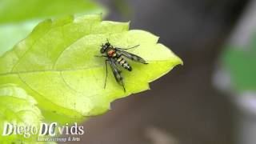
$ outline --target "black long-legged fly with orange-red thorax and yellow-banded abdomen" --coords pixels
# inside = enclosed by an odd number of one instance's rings
[[[104,45],[102,44],[102,46],[101,46],[100,53],[102,55],[97,56],[97,57],[106,57],[106,61],[105,61],[106,79],[107,79],[107,75],[108,75],[107,74],[107,62],[109,62],[110,66],[111,66],[111,70],[114,74],[115,80],[118,82],[119,85],[121,85],[123,87],[123,90],[125,92],[126,92],[126,88],[124,86],[123,78],[122,78],[122,75],[121,75],[122,71],[118,68],[118,66],[119,67],[121,66],[122,68],[124,68],[128,71],[131,71],[132,67],[126,61],[126,58],[129,58],[129,59],[133,60],[134,62],[140,62],[140,63],[143,63],[143,64],[148,64],[148,63],[146,63],[146,61],[143,58],[139,57],[138,55],[131,54],[131,53],[126,51],[126,50],[136,48],[138,46],[139,45],[123,49],[123,48],[112,46],[110,44],[110,42],[107,40],[107,42]],[[106,79],[105,79],[104,88],[106,88]]]

